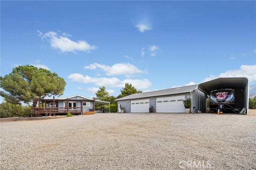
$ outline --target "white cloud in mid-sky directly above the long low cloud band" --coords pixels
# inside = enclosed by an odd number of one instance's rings
[[[90,64],[89,66],[84,66],[85,69],[95,70],[96,68],[100,68],[101,70],[106,72],[106,75],[134,75],[145,73],[146,71],[139,70],[138,67],[130,64],[130,63],[117,63],[112,66],[106,66],[98,63]]]

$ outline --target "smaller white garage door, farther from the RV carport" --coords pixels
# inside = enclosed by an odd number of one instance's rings
[[[149,113],[149,99],[132,100],[131,113]]]

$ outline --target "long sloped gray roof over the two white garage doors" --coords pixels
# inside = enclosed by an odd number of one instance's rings
[[[190,86],[182,86],[182,87],[176,87],[176,88],[168,88],[168,89],[164,89],[164,90],[156,90],[156,91],[152,91],[152,92],[131,94],[129,96],[125,96],[123,98],[117,99],[116,101],[192,92],[194,89],[197,88],[197,86],[198,86],[198,84],[194,84],[194,85],[190,85]]]

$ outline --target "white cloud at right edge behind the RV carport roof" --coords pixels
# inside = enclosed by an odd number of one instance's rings
[[[210,77],[205,78],[202,82],[207,82],[220,77],[246,77],[249,82],[256,81],[256,65],[241,65],[238,70],[228,70],[221,73],[218,76],[210,75]]]

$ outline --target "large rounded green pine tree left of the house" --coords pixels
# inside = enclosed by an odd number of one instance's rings
[[[66,82],[55,72],[32,65],[13,68],[10,74],[0,77],[0,95],[6,102],[12,104],[28,104],[33,99],[42,99],[46,96],[61,96]],[[37,102],[33,102],[33,107]]]

